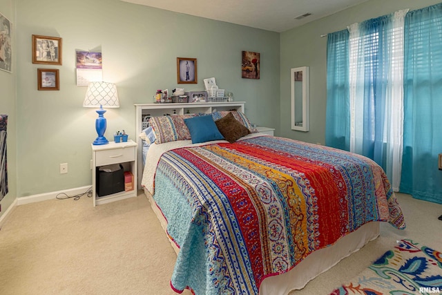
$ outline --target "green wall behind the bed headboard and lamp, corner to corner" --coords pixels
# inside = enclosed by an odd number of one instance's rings
[[[120,108],[108,109],[105,136],[124,129],[135,140],[135,103],[156,89],[220,88],[245,101],[252,122],[279,126],[280,35],[119,0],[17,1],[17,196],[91,184],[90,144],[97,137],[92,108],[82,107],[75,50],[101,50],[103,79],[115,82]],[[63,38],[63,65],[32,64],[31,35]],[[260,53],[260,79],[241,78],[241,52]],[[177,84],[177,57],[198,61],[198,84]],[[60,91],[37,91],[37,68],[57,68]],[[68,173],[59,164],[68,163]]]

